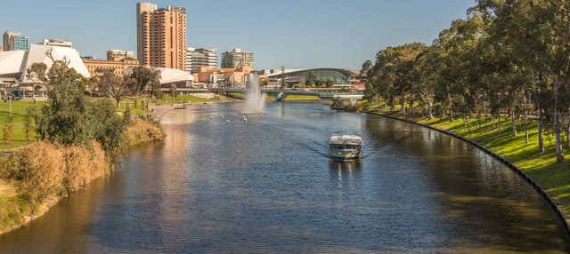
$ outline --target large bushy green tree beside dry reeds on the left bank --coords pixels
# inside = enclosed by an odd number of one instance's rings
[[[52,67],[49,104],[36,115],[40,139],[63,146],[91,148],[97,140],[111,161],[115,161],[123,141],[125,124],[108,99],[90,100],[85,96],[83,79],[72,68]]]

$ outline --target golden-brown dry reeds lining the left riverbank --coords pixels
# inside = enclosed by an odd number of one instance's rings
[[[163,140],[155,123],[134,119],[126,127],[126,147]],[[61,199],[113,171],[99,143],[91,148],[34,141],[0,157],[0,234],[42,217]]]

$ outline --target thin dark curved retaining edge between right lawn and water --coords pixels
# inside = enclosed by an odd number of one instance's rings
[[[494,152],[492,149],[485,147],[485,146],[477,143],[474,140],[467,139],[467,138],[465,138],[459,134],[453,133],[452,131],[439,129],[439,128],[436,128],[434,126],[431,126],[431,125],[428,125],[425,123],[419,123],[419,122],[416,122],[414,120],[400,118],[400,117],[397,117],[394,115],[387,115],[387,114],[382,114],[382,113],[378,113],[378,112],[367,111],[367,110],[362,111],[362,114],[379,115],[379,116],[386,117],[389,119],[393,119],[396,121],[411,123],[411,124],[418,125],[420,127],[428,128],[429,130],[432,130],[432,131],[440,132],[440,133],[442,133],[444,135],[448,135],[454,139],[460,139],[463,142],[467,142],[469,145],[474,146],[477,149],[483,151],[486,155],[490,155],[493,158],[499,160],[501,163],[503,163],[505,166],[507,166],[511,171],[514,171],[515,173],[517,173],[517,175],[520,178],[524,179],[526,183],[531,185],[531,187],[533,187],[533,189],[538,194],[540,194],[542,196],[542,198],[549,204],[552,213],[555,215],[558,222],[560,223],[560,226],[562,226],[564,233],[566,234],[566,242],[570,242],[570,226],[569,226],[570,219],[568,218],[568,215],[566,214],[566,212],[564,210],[562,210],[562,207],[561,207],[561,205],[558,204],[558,201],[553,197],[554,195],[550,194],[550,192],[548,190],[546,190],[544,187],[542,187],[542,185],[536,179],[533,179],[531,176],[526,174],[524,170],[517,167],[517,165],[510,162],[504,156],[499,155],[498,153]]]

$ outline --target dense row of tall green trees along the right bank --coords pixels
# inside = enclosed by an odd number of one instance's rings
[[[570,144],[570,2],[563,0],[479,0],[468,17],[453,20],[431,45],[387,47],[376,62],[362,64],[366,97],[378,99],[403,117],[436,113],[440,119],[487,115],[518,135],[524,121],[529,144],[529,117],[537,119],[536,140],[554,134],[557,162],[564,161],[562,132]],[[419,110],[418,110],[419,109]],[[522,118],[522,119],[521,119]]]

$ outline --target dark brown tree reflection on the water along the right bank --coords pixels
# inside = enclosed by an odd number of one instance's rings
[[[419,160],[440,218],[452,226],[448,244],[501,242],[493,250],[549,250],[560,248],[554,217],[542,198],[513,171],[460,139],[376,115],[368,115],[369,142],[389,146],[398,155]],[[394,153],[394,152],[393,152]],[[484,232],[485,234],[481,234]],[[476,246],[474,246],[476,247]],[[482,246],[479,246],[482,247]]]

